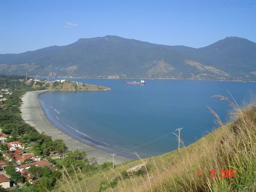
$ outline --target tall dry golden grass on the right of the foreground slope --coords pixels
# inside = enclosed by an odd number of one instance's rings
[[[230,102],[227,98],[223,98]],[[256,190],[256,103],[242,109],[232,103],[233,123],[223,125],[215,114],[221,131],[214,140],[201,139],[201,146],[184,147],[184,156],[173,165],[158,166],[152,175],[153,191],[255,191]],[[165,162],[168,164],[168,162]],[[198,170],[200,176],[198,177]],[[214,170],[214,177],[211,177]],[[225,177],[221,170],[236,170],[235,177]],[[159,174],[160,173],[160,174]],[[221,177],[222,175],[223,177]],[[150,191],[148,183],[138,191]]]

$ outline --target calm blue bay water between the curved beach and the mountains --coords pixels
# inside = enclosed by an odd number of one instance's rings
[[[146,80],[145,85],[134,85],[124,84],[123,79],[70,80],[111,91],[41,94],[48,119],[78,140],[128,157],[133,152],[148,157],[176,149],[177,138],[172,134],[176,128],[183,128],[180,135],[185,145],[217,128],[207,106],[227,122],[228,102],[213,95],[230,96],[228,90],[241,104],[250,92],[256,93],[255,82]]]

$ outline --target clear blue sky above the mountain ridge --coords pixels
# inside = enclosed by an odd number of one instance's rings
[[[0,1],[0,53],[105,35],[195,48],[229,36],[256,42],[256,0]]]

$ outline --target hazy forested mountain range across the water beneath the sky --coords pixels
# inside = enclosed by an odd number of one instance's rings
[[[227,37],[207,47],[107,35],[20,54],[0,54],[0,73],[93,78],[256,80],[256,43]]]

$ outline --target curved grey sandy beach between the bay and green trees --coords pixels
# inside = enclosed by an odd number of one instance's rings
[[[45,134],[52,137],[52,139],[62,139],[66,143],[67,147],[74,151],[76,149],[85,151],[87,157],[96,157],[98,163],[103,163],[105,161],[113,160],[113,157],[110,153],[102,151],[96,147],[86,145],[78,140],[75,140],[73,137],[60,131],[55,125],[53,125],[46,117],[44,110],[41,108],[41,105],[38,100],[38,96],[41,93],[46,92],[45,90],[41,91],[32,91],[27,92],[22,98],[22,105],[20,108],[21,117],[26,123],[35,127],[39,132],[44,132]],[[122,157],[115,155],[114,163],[123,163],[128,160],[127,157]]]

